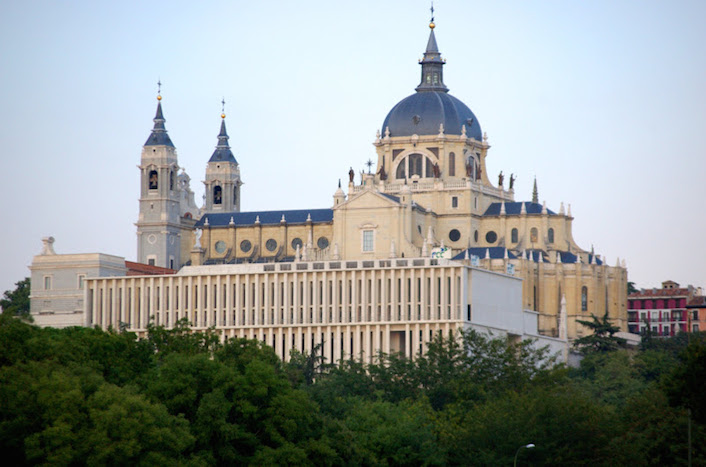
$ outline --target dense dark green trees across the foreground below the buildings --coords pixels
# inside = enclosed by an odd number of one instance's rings
[[[680,338],[681,339],[681,338]],[[0,317],[8,465],[694,465],[706,463],[706,342],[586,351],[468,332],[408,360],[281,362],[187,323],[144,339]],[[367,360],[367,359],[366,359]]]

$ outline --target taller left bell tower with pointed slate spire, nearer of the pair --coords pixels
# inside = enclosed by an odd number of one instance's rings
[[[161,88],[161,83],[158,83]],[[140,213],[137,219],[137,261],[178,269],[180,255],[179,164],[157,94],[154,127],[142,147],[140,159]]]

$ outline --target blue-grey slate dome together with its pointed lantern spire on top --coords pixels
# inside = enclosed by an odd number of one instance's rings
[[[439,126],[444,125],[444,133],[460,135],[466,127],[466,136],[481,141],[483,133],[478,119],[466,104],[449,94],[444,85],[441,53],[436,45],[434,23],[429,25],[429,41],[424,52],[422,82],[416,93],[402,99],[385,117],[381,133],[390,136],[436,135]]]

